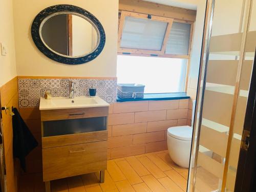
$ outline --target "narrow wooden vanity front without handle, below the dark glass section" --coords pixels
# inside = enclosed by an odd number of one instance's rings
[[[105,141],[107,139],[108,139],[108,131],[42,137],[42,148],[66,146],[66,145],[89,143],[89,142],[96,142],[96,141]]]

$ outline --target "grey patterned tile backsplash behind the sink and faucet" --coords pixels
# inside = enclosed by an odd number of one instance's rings
[[[50,91],[52,97],[68,97],[69,81],[75,82],[75,96],[89,96],[89,88],[95,87],[99,97],[108,103],[116,102],[116,79],[58,79],[58,78],[18,78],[18,98],[20,108],[38,107],[40,97]]]

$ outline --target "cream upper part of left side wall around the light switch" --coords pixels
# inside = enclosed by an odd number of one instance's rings
[[[15,77],[15,49],[12,1],[0,0],[0,42],[7,46],[8,54],[2,56],[0,53],[0,87]]]

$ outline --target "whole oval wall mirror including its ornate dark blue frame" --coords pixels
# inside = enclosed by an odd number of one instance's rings
[[[36,47],[47,57],[70,65],[95,59],[105,45],[105,32],[90,12],[73,5],[42,10],[31,26]]]

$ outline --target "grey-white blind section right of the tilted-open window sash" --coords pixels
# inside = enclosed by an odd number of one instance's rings
[[[174,22],[167,41],[166,54],[187,55],[190,37],[190,24]]]

